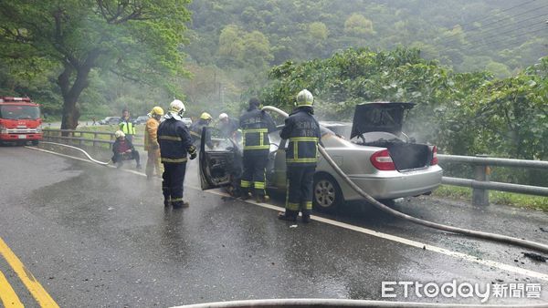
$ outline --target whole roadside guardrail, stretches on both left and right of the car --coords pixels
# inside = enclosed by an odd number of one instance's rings
[[[69,136],[61,136],[63,132]],[[84,138],[84,135],[93,135],[92,139]],[[98,139],[98,136],[110,136],[109,139]],[[142,140],[142,135],[135,135],[134,140]],[[88,130],[70,130],[70,129],[44,129],[44,138],[50,140],[67,140],[72,143],[77,143],[80,146],[86,143],[91,143],[93,147],[100,144],[108,144],[111,148],[114,143],[114,133],[104,131],[88,131]],[[140,142],[133,142],[135,147],[143,147]],[[486,155],[477,156],[458,156],[437,154],[437,159],[440,163],[443,162],[458,162],[475,166],[475,179],[461,179],[443,177],[442,184],[468,187],[472,189],[472,204],[474,205],[489,205],[489,190],[499,190],[507,192],[517,192],[536,196],[548,197],[548,187],[529,186],[511,183],[501,183],[490,181],[490,167],[512,167],[512,168],[533,168],[533,169],[548,169],[548,161],[543,160],[525,160],[525,159],[497,159],[489,158]]]

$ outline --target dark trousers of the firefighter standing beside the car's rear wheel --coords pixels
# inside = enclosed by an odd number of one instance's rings
[[[311,214],[312,185],[316,166],[292,166],[287,168],[286,214],[297,216]]]

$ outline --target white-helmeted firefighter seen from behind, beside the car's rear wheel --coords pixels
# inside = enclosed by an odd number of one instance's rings
[[[303,89],[297,95],[297,108],[285,120],[279,132],[281,139],[289,139],[286,150],[287,198],[285,212],[278,218],[297,221],[299,210],[302,222],[311,220],[312,182],[318,162],[318,143],[321,142],[320,125],[312,116],[314,98]]]

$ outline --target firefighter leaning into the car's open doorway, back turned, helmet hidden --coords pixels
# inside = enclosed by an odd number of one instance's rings
[[[258,202],[266,202],[266,168],[269,160],[269,132],[276,128],[269,114],[260,110],[258,98],[249,99],[249,107],[239,118],[244,139],[243,173],[240,182],[240,198],[247,200],[251,188],[255,189]]]

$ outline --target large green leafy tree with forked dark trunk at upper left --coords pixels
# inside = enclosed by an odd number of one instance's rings
[[[0,3],[0,56],[44,59],[58,67],[61,128],[78,125],[79,96],[93,69],[170,87],[182,76],[188,0],[65,0]]]

